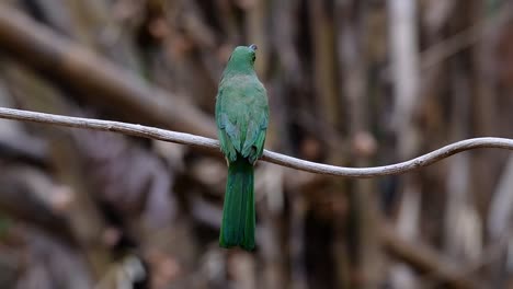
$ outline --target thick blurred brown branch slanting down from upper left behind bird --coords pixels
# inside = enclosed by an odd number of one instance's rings
[[[1,1],[2,3],[4,1]],[[22,12],[0,4],[0,47],[20,62],[71,85],[83,93],[75,96],[127,119],[215,136],[213,118],[186,97],[146,83],[99,55]]]

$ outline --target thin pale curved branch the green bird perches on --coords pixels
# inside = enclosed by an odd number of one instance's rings
[[[50,124],[65,127],[113,131],[129,136],[187,144],[212,151],[219,151],[218,141],[210,138],[200,137],[184,132],[170,131],[155,127],[126,124],[121,122],[69,117],[3,107],[0,107],[0,118]],[[513,139],[491,137],[466,139],[445,146],[441,149],[437,149],[435,151],[432,151],[430,153],[423,154],[409,161],[373,167],[345,167],[309,162],[277,152],[272,152],[269,150],[264,151],[264,154],[261,160],[310,173],[366,178],[406,173],[422,166],[430,165],[455,153],[479,148],[513,150]]]

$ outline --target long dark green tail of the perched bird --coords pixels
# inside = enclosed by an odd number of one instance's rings
[[[255,226],[253,189],[253,165],[238,155],[228,167],[219,234],[221,247],[240,246],[247,251],[253,250]]]

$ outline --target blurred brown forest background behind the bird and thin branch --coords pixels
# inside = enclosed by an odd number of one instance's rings
[[[511,0],[1,0],[0,106],[215,137],[259,46],[266,148],[389,164],[513,137]],[[221,250],[220,154],[0,120],[0,288],[513,288],[513,155],[400,176],[261,162],[256,250]]]

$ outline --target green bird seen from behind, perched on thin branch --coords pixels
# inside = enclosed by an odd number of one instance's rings
[[[267,93],[254,71],[256,45],[235,48],[216,97],[220,150],[228,163],[221,247],[254,248],[254,172],[269,124]]]

